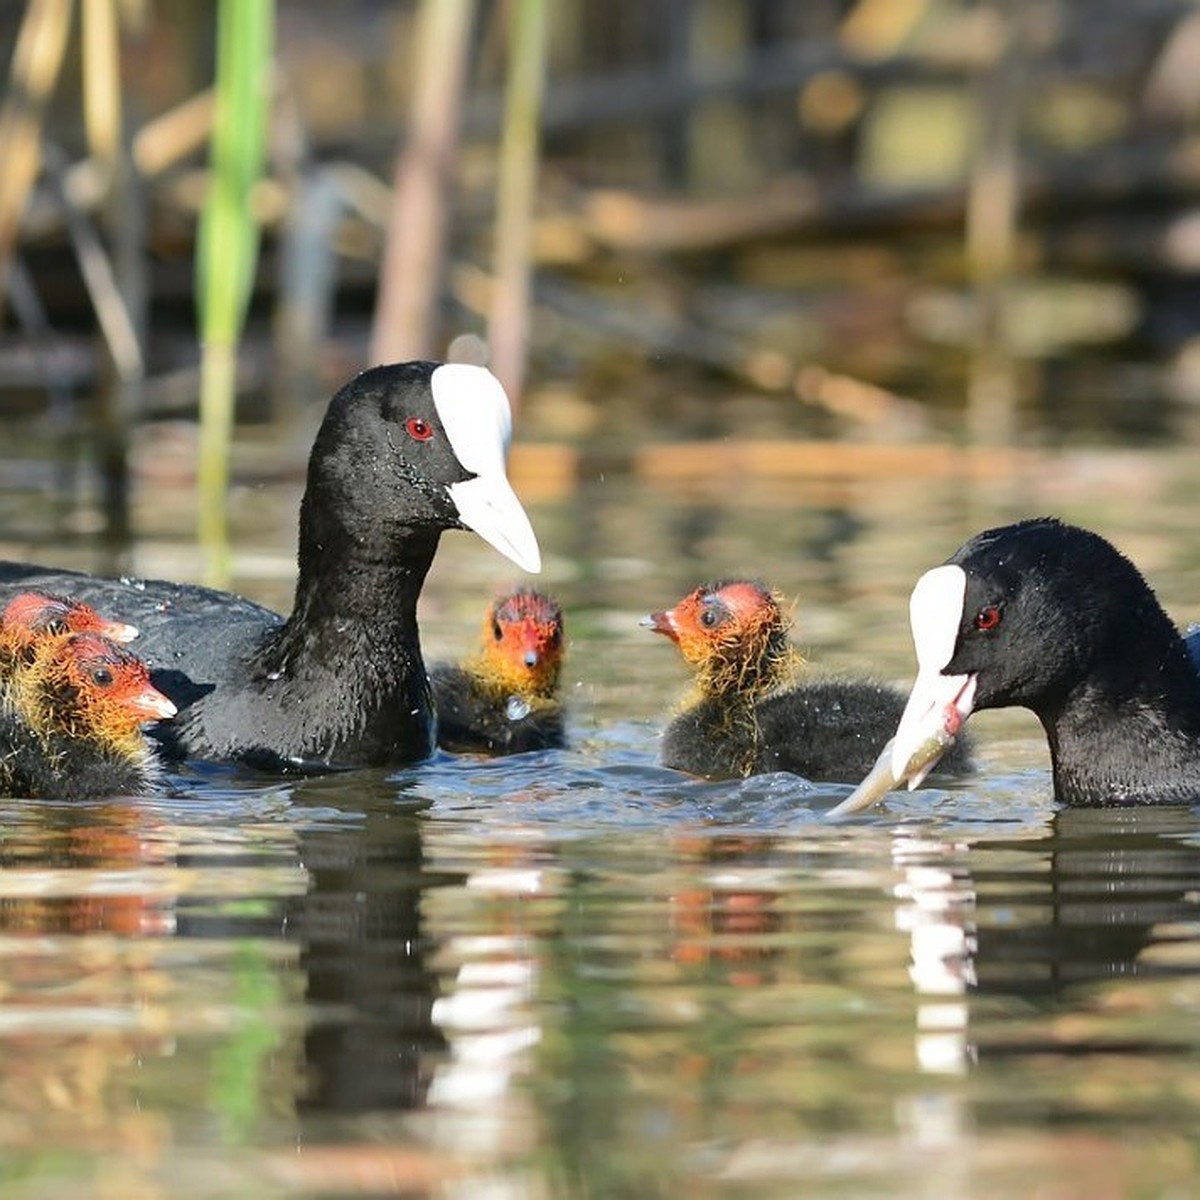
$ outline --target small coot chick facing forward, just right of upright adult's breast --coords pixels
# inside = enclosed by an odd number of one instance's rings
[[[566,742],[558,695],[563,610],[521,588],[488,605],[479,654],[430,672],[445,750],[506,755]]]

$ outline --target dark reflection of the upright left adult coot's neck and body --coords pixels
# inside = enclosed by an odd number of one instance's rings
[[[316,776],[289,792],[298,814],[332,808],[342,818],[325,829],[300,829],[299,845],[282,863],[277,853],[260,859],[244,853],[238,862],[302,865],[307,892],[272,901],[257,916],[193,911],[185,902],[176,934],[226,942],[277,938],[299,948],[299,966],[294,970],[305,980],[304,996],[284,1002],[304,1004],[300,1111],[420,1108],[445,1051],[431,1019],[436,984],[421,922],[422,893],[438,881],[424,866],[420,817],[400,806],[402,785],[382,773]],[[188,854],[178,865],[203,862]]]

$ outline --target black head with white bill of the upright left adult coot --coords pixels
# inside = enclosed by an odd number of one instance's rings
[[[301,536],[380,554],[397,534],[473,529],[527,571],[538,540],[504,472],[499,380],[467,364],[372,367],[330,401],[308,461]]]

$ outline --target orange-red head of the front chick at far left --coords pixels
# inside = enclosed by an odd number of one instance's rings
[[[145,664],[102,634],[43,635],[12,698],[43,732],[120,739],[175,715]]]

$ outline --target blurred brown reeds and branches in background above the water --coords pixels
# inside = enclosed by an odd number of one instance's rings
[[[223,438],[302,463],[324,397],[416,356],[490,361],[542,476],[1196,433],[1194,0],[256,5]],[[220,11],[0,5],[0,468],[64,448],[118,540],[131,474],[194,470]]]

